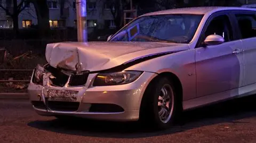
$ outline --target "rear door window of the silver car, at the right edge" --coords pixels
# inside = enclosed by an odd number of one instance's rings
[[[256,37],[256,17],[254,14],[236,14],[243,39]]]

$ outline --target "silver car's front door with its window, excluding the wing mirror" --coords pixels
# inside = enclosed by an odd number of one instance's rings
[[[217,94],[242,86],[243,46],[227,12],[210,16],[196,47],[197,97]],[[209,35],[220,35],[225,42],[203,46]]]

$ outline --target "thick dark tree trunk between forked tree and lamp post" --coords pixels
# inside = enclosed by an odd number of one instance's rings
[[[46,0],[33,0],[36,9],[37,23],[41,38],[46,38],[50,34],[49,8]]]

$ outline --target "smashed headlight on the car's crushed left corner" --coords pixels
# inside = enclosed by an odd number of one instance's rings
[[[45,71],[44,67],[38,64],[34,71],[33,82],[37,83],[38,85],[43,85],[43,76],[46,73],[47,72]]]

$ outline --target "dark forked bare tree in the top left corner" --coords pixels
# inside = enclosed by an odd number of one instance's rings
[[[13,9],[11,9],[13,3]],[[6,15],[11,16],[13,20],[13,32],[14,38],[17,38],[19,33],[19,14],[29,5],[26,3],[26,0],[20,0],[18,3],[17,0],[5,0],[5,5],[0,4],[0,8],[5,11]]]

